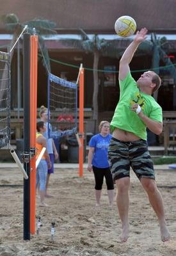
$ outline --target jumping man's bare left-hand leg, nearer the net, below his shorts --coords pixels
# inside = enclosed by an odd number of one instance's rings
[[[122,235],[120,239],[122,242],[126,242],[129,237],[129,177],[116,180],[117,196],[116,205],[118,207],[118,214],[122,222]]]

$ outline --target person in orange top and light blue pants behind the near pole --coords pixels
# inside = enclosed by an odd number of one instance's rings
[[[40,155],[42,148],[47,147],[47,141],[44,137],[44,132],[46,131],[46,127],[44,122],[36,123],[36,159]],[[47,150],[45,150],[44,156],[40,160],[38,167],[36,168],[36,188],[40,184],[40,206],[45,207],[48,206],[44,202],[45,198],[45,186],[47,182],[47,170],[51,168],[51,159]]]

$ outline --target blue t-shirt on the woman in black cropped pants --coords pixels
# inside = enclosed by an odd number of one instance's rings
[[[100,133],[94,135],[89,142],[89,146],[95,148],[92,165],[97,168],[108,168],[108,147],[112,135],[108,134],[103,137]]]

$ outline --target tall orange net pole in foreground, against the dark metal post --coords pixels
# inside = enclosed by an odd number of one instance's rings
[[[31,84],[30,84],[30,104],[31,104],[31,148],[36,147],[36,96],[37,96],[37,54],[38,36],[31,36]],[[31,234],[35,234],[35,212],[36,212],[36,168],[35,156],[31,158]]]

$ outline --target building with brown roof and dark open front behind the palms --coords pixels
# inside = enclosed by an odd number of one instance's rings
[[[148,28],[148,40],[152,33],[156,33],[157,47],[163,47],[166,52],[164,58],[175,65],[176,58],[176,2],[172,0],[44,0],[24,1],[6,0],[1,3],[0,16],[7,13],[15,13],[20,22],[32,19],[47,19],[56,22],[54,36],[45,37],[45,45],[51,58],[51,72],[56,76],[69,81],[76,81],[79,65],[83,63],[85,68],[85,108],[92,108],[93,95],[93,53],[68,46],[61,42],[63,38],[81,40],[80,29],[92,38],[98,35],[108,42],[115,42],[119,56],[129,44],[131,38],[123,38],[115,35],[115,20],[121,15],[130,15],[136,20],[138,29]],[[159,39],[166,38],[164,45]],[[6,45],[12,40],[12,35],[6,31],[3,22],[0,22],[0,47],[6,51]],[[162,43],[162,42],[161,42]],[[18,45],[17,45],[18,47]],[[17,108],[17,83],[22,84],[22,72],[18,81],[18,67],[22,68],[22,58],[18,63],[17,47],[12,60],[12,108]],[[21,49],[21,44],[19,44]],[[131,63],[132,74],[138,78],[143,70],[152,68],[154,52],[138,52]],[[22,51],[20,51],[20,56]],[[100,56],[99,60],[99,118],[111,119],[119,97],[118,88],[118,63],[120,57],[113,58]],[[159,66],[164,66],[164,60],[159,61]],[[137,70],[137,71],[136,71]],[[176,109],[175,81],[169,68],[159,69],[159,75],[163,79],[163,86],[159,90],[157,100],[163,110]],[[38,56],[38,107],[47,101],[47,72],[42,65],[42,58]],[[22,95],[22,86],[21,86]],[[39,97],[40,95],[40,97]],[[22,100],[20,102],[22,106]]]

